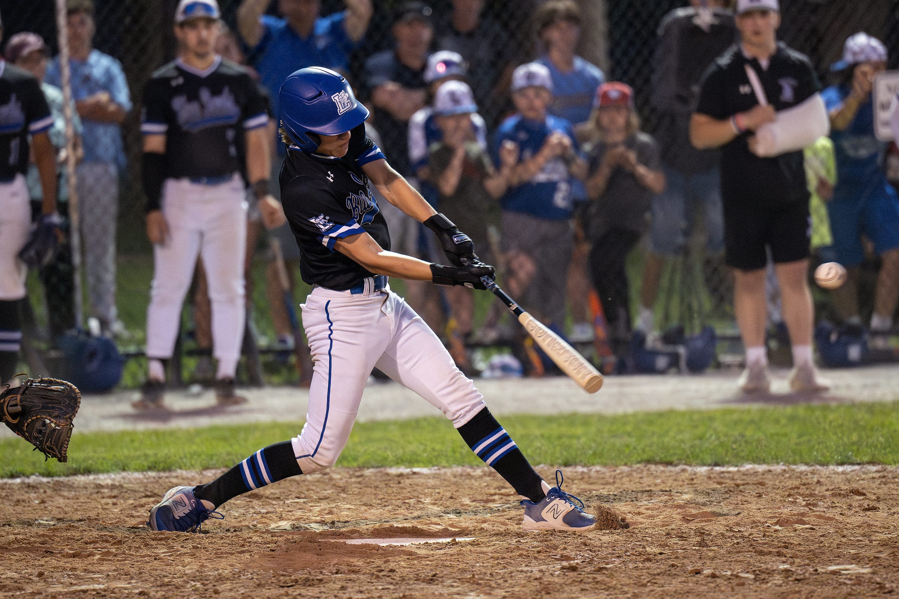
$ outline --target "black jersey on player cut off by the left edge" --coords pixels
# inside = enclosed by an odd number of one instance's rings
[[[40,83],[23,68],[0,60],[0,181],[28,172],[28,136],[53,125]]]

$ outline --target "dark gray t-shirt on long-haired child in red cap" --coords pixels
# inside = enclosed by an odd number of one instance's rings
[[[641,165],[652,171],[662,169],[659,147],[652,136],[637,132],[625,139],[624,145],[634,150],[637,162]],[[612,146],[599,142],[587,150],[590,176],[596,173],[610,148]],[[596,240],[610,228],[645,233],[649,224],[648,212],[652,201],[653,192],[641,185],[633,173],[616,166],[609,178],[606,191],[596,201],[592,201],[587,210],[587,219],[584,223],[587,236]]]

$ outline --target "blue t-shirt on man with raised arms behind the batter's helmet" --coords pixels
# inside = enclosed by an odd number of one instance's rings
[[[278,121],[278,93],[291,73],[306,67],[349,70],[350,52],[356,47],[356,42],[347,35],[345,21],[345,11],[319,17],[309,37],[301,38],[287,20],[270,14],[260,17],[264,32],[252,50],[254,67],[271,94],[271,113]],[[283,153],[283,146],[280,149]]]

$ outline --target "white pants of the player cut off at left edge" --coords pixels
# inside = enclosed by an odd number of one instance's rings
[[[25,177],[0,183],[0,300],[25,297],[25,264],[19,252],[31,232],[31,204]]]

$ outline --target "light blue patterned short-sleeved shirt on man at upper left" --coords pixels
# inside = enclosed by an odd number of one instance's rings
[[[121,68],[121,63],[100,50],[93,49],[87,60],[68,61],[71,70],[72,99],[80,102],[85,98],[107,92],[112,102],[119,104],[125,112],[131,110],[131,94],[128,80]],[[49,85],[60,87],[59,57],[50,60],[44,81]],[[106,162],[124,169],[126,166],[125,150],[121,141],[121,130],[118,123],[91,121],[82,119],[84,130],[82,142],[85,147],[85,162]]]

